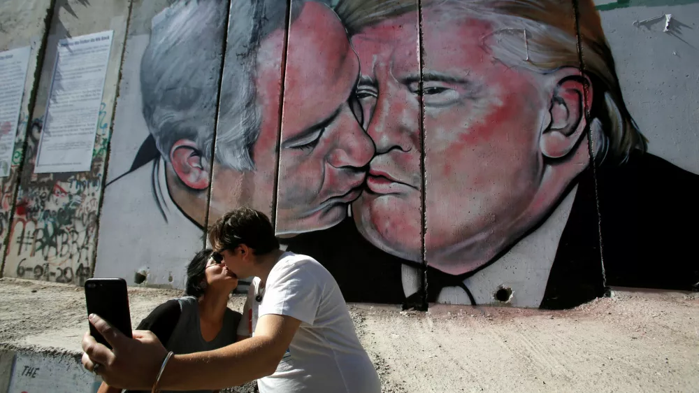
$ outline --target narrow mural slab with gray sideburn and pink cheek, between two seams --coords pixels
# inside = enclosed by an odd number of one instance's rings
[[[286,19],[286,2],[231,1],[208,222],[231,206],[273,215]]]

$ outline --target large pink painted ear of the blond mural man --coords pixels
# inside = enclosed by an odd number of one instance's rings
[[[554,78],[549,106],[551,121],[541,136],[540,148],[546,157],[561,158],[575,148],[585,131],[585,97],[590,108],[592,85],[578,69],[561,69],[554,73]]]

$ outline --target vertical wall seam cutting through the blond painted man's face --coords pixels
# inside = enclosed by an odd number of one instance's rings
[[[428,304],[427,304],[427,257],[426,257],[426,248],[425,248],[425,235],[427,233],[427,210],[426,210],[426,200],[425,200],[425,195],[426,195],[426,190],[427,190],[427,174],[426,174],[426,169],[425,169],[425,160],[426,160],[426,152],[425,152],[425,138],[426,138],[426,132],[425,132],[425,102],[424,102],[424,93],[423,93],[423,80],[422,80],[422,70],[424,69],[424,48],[423,48],[423,41],[422,41],[422,0],[417,0],[417,20],[418,20],[418,35],[417,35],[417,45],[418,45],[418,59],[419,59],[419,64],[420,64],[420,94],[419,94],[419,100],[420,100],[420,174],[421,174],[421,190],[420,190],[420,227],[421,227],[421,243],[420,243],[420,254],[422,257],[422,266],[421,266],[421,290],[422,290],[422,304],[421,304],[421,309],[422,310],[427,310]]]

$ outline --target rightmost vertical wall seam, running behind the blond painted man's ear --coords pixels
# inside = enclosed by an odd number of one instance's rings
[[[578,55],[578,60],[580,63],[580,71],[583,76],[585,76],[585,63],[584,63],[584,55],[582,52],[582,37],[580,34],[580,8],[579,8],[579,3],[578,0],[572,0],[572,7],[573,7],[573,12],[575,13],[575,38],[577,38],[577,55]],[[600,267],[602,268],[602,285],[605,288],[605,292],[607,290],[607,273],[605,271],[605,259],[604,259],[604,252],[603,252],[603,241],[602,241],[602,215],[600,213],[600,194],[598,190],[598,185],[597,185],[597,160],[594,154],[594,140],[592,138],[592,132],[591,132],[591,124],[590,124],[590,113],[589,113],[589,107],[587,106],[588,102],[588,97],[589,97],[589,83],[586,78],[584,78],[584,84],[583,84],[583,105],[584,105],[584,116],[585,116],[585,122],[587,124],[587,148],[588,148],[588,154],[590,157],[590,165],[592,167],[592,178],[594,182],[594,188],[595,188],[595,208],[597,211],[597,235],[598,235],[598,242],[600,245]]]

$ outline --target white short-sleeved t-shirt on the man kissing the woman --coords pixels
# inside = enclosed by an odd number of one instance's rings
[[[240,324],[238,334],[254,332],[259,317],[267,314],[301,321],[277,371],[257,380],[261,393],[381,392],[379,376],[329,271],[311,257],[284,252],[269,273],[261,302],[255,299],[259,284],[255,278],[250,285],[243,315],[248,323]]]

